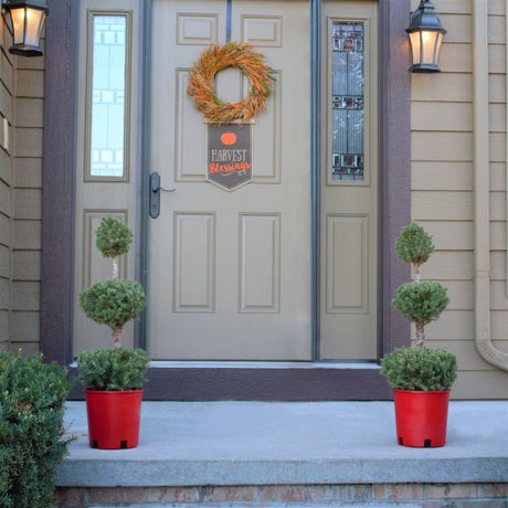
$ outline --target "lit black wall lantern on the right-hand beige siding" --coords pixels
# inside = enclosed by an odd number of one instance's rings
[[[419,8],[411,14],[411,23],[405,31],[410,38],[413,59],[410,71],[441,72],[437,61],[446,30],[434,14],[432,2],[421,0]]]

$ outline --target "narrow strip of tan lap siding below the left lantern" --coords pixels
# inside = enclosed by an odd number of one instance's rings
[[[44,59],[17,59],[11,349],[39,351]]]

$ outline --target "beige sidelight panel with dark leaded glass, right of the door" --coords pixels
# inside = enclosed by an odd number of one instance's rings
[[[378,2],[322,3],[320,357],[377,358]]]

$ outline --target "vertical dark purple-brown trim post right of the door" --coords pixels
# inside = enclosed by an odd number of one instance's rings
[[[381,98],[381,203],[382,224],[382,343],[380,356],[410,343],[411,327],[391,300],[410,268],[395,253],[395,239],[411,219],[411,74],[405,28],[410,0],[380,0],[382,80]]]

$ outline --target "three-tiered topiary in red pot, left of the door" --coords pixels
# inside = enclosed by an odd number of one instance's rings
[[[148,354],[121,347],[121,330],[144,309],[139,283],[118,278],[118,258],[128,252],[133,233],[112,215],[97,229],[97,248],[113,258],[114,278],[80,293],[86,316],[112,329],[113,349],[83,351],[77,357],[78,379],[85,387],[88,441],[94,448],[134,448],[139,442],[142,381]]]

